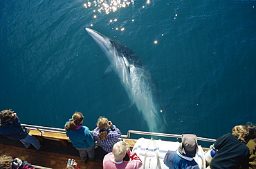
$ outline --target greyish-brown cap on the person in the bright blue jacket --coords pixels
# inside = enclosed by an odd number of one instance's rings
[[[182,140],[182,153],[191,157],[195,157],[197,152],[197,137],[196,135],[183,134]]]

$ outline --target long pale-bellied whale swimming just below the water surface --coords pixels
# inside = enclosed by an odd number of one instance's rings
[[[114,70],[118,74],[129,99],[136,105],[138,111],[142,113],[145,121],[147,121],[149,131],[163,132],[165,120],[156,101],[156,86],[152,83],[152,76],[145,70],[143,62],[122,43],[110,39],[91,28],[85,29],[94,41],[98,43],[98,46],[110,61],[104,76]]]

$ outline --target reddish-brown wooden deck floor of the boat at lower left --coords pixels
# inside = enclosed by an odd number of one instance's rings
[[[63,169],[66,168],[66,161],[68,159],[75,159],[77,166],[80,169],[101,169],[102,159],[107,152],[102,148],[95,149],[95,160],[88,161],[86,164],[80,160],[79,152],[68,143],[68,146],[63,146],[60,141],[45,140],[48,147],[44,150],[38,151],[32,148],[25,148],[20,141],[8,139],[0,136],[0,153],[18,157],[22,161],[28,161],[32,165],[42,166],[45,168]]]

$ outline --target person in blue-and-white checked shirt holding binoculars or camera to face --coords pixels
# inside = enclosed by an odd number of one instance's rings
[[[93,138],[106,152],[112,151],[113,145],[119,141],[121,135],[120,130],[105,117],[99,117],[97,128],[93,130]]]

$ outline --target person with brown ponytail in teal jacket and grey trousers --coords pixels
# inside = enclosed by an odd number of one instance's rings
[[[69,137],[73,146],[79,151],[80,157],[84,163],[87,157],[93,160],[95,157],[95,141],[91,131],[86,126],[82,126],[84,115],[81,112],[75,112],[72,119],[65,124],[66,136]]]

